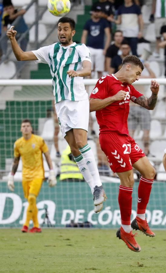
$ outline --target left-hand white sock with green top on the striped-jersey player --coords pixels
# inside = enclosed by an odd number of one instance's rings
[[[86,161],[83,158],[83,156],[80,154],[77,157],[74,157],[75,162],[78,165],[78,168],[83,175],[85,181],[88,183],[89,187],[91,188],[92,194],[94,193],[94,183],[93,183],[93,177],[90,173],[90,171],[87,168]]]

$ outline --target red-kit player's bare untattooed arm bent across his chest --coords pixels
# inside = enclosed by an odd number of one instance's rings
[[[126,97],[126,94],[127,93],[125,91],[120,90],[116,95],[105,99],[90,98],[90,112],[101,110],[115,101],[122,100]]]

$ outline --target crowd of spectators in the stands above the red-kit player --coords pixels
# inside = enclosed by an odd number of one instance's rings
[[[165,48],[166,1],[148,1],[151,2],[149,24],[151,22],[155,24],[156,49],[153,55],[158,60],[159,49]],[[131,54],[140,57],[139,43],[150,44],[150,41],[144,38],[145,25],[141,13],[141,8],[146,2],[144,0],[98,0],[91,6],[91,19],[85,22],[81,42],[85,43],[91,51],[92,69],[97,72],[97,74],[94,73],[95,78],[117,71],[116,59],[120,62],[120,58],[123,59],[126,56],[127,47],[130,48]],[[124,41],[127,46],[122,52],[121,44]]]

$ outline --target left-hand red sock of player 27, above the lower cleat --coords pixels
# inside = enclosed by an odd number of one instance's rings
[[[133,188],[119,186],[118,202],[121,212],[121,224],[130,225]]]

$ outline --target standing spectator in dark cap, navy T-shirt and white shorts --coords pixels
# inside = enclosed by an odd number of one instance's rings
[[[105,53],[110,41],[108,22],[101,18],[101,10],[96,7],[92,10],[91,19],[85,23],[81,43],[86,44],[90,50],[92,70],[98,72],[98,78],[102,77],[104,71]]]

